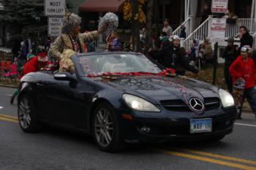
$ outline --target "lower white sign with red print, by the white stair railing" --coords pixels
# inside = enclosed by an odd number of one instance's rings
[[[225,41],[226,23],[226,18],[211,18],[211,42]]]

